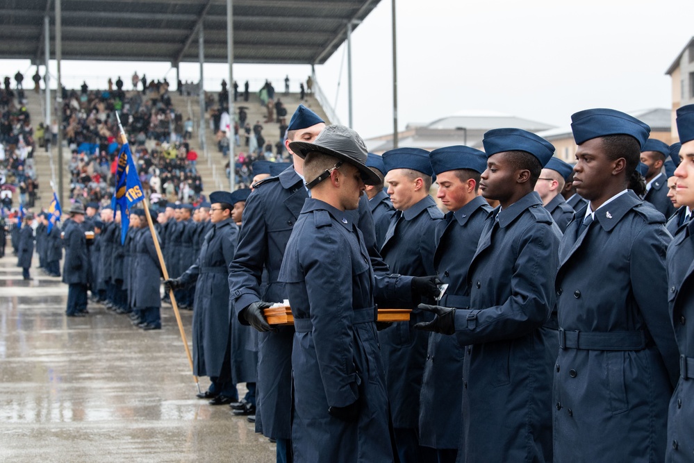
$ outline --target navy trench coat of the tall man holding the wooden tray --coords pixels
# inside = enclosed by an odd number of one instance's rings
[[[256,183],[242,215],[242,226],[234,260],[229,266],[229,288],[240,323],[247,324],[240,311],[257,301],[281,302],[288,298],[278,279],[287,242],[308,192],[304,180],[293,166],[279,176]],[[359,230],[372,256],[374,272],[388,273],[388,267],[375,249],[373,219],[366,196],[362,196],[356,215]],[[267,287],[260,294],[263,268]],[[392,300],[411,300],[412,278],[392,276],[381,279],[383,291]],[[276,331],[258,335],[258,391],[256,415],[260,415],[263,435],[291,439],[292,342],[294,328],[279,326]],[[256,425],[258,421],[256,421]]]

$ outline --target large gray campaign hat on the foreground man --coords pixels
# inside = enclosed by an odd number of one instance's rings
[[[349,127],[331,125],[321,131],[313,143],[291,142],[290,149],[301,159],[311,151],[349,162],[361,172],[365,185],[379,185],[381,178],[366,166],[368,151],[364,140]]]

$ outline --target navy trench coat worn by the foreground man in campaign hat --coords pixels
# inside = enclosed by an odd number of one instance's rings
[[[308,199],[279,273],[297,331],[292,351],[297,462],[393,461],[374,323],[374,273],[352,217]],[[354,422],[329,414],[329,407],[355,402]]]

